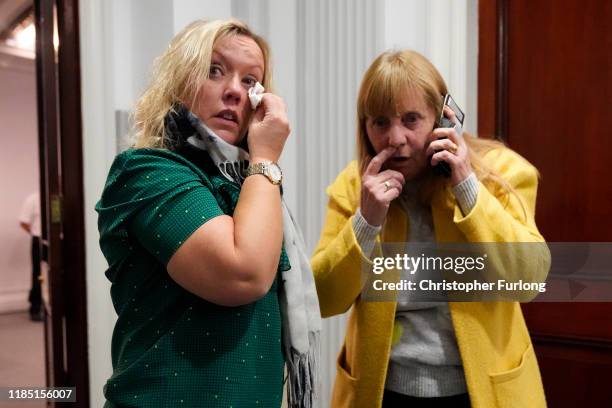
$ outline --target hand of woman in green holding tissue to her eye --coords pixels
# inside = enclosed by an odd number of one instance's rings
[[[290,131],[285,102],[277,95],[264,93],[249,125],[251,161],[278,161]]]

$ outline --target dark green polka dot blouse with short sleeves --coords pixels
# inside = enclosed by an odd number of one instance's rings
[[[259,301],[223,307],[166,271],[196,229],[233,214],[239,194],[200,151],[130,149],[115,159],[96,205],[118,314],[107,407],[280,407],[278,279]],[[283,250],[279,270],[288,268]]]

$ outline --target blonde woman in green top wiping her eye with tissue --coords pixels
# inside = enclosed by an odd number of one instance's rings
[[[270,80],[268,46],[236,20],[190,24],[156,61],[96,206],[118,314],[108,407],[279,407],[285,360],[290,405],[313,404],[320,316]]]

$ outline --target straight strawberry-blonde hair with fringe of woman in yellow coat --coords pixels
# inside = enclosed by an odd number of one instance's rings
[[[437,118],[442,112],[448,89],[433,64],[416,51],[387,51],[379,55],[366,71],[357,97],[357,158],[361,174],[376,155],[366,132],[366,118],[389,112],[398,114],[406,92],[422,95]],[[502,148],[504,144],[472,137],[467,132],[464,135],[476,177],[487,187],[501,188],[507,202],[509,193],[516,194],[515,190],[482,160],[486,152]],[[433,190],[442,187],[442,178],[430,176],[430,181],[425,183],[428,188],[423,191],[424,200],[431,198]]]

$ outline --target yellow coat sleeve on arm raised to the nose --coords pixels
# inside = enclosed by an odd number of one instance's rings
[[[361,293],[361,268],[364,264],[371,265],[353,230],[358,197],[355,188],[359,181],[350,176],[351,172],[349,167],[327,189],[325,224],[312,256],[323,317],[344,313],[351,307]]]

